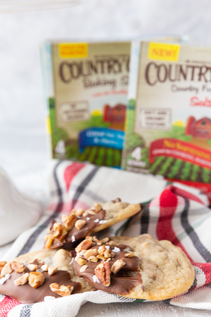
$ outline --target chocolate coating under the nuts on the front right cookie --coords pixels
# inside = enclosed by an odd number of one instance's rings
[[[105,243],[102,243],[101,245],[105,245]],[[90,249],[98,249],[101,245],[95,245]],[[136,285],[142,284],[141,275],[140,273],[138,273],[138,270],[140,268],[140,260],[137,256],[133,256],[131,258],[124,257],[124,254],[128,253],[128,248],[130,249],[130,247],[128,247],[127,245],[120,244],[116,247],[119,248],[121,251],[115,252],[114,259],[109,261],[110,268],[116,260],[123,260],[124,262],[126,262],[126,264],[117,274],[111,273],[111,283],[109,286],[103,286],[102,283],[97,283],[93,281],[92,277],[95,275],[94,270],[96,266],[101,263],[100,260],[98,262],[88,261],[86,263],[86,265],[88,265],[88,268],[83,273],[80,272],[81,266],[75,260],[73,261],[73,268],[78,276],[82,277],[84,281],[90,283],[97,289],[101,289],[102,291],[108,293],[126,295],[129,294],[129,292]],[[115,246],[110,246],[111,250],[113,250],[114,248]],[[127,251],[123,251],[124,249],[127,249]]]

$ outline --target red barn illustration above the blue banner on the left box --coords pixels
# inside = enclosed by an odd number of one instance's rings
[[[109,122],[109,128],[124,130],[126,115],[126,106],[122,104],[117,104],[114,107],[105,105],[103,107],[103,118],[104,122]]]

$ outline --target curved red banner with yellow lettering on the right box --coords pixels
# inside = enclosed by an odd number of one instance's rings
[[[177,139],[158,139],[150,145],[150,163],[156,156],[170,156],[211,170],[211,152]]]

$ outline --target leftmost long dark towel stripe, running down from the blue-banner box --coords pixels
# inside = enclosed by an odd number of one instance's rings
[[[62,190],[61,190],[61,187],[59,185],[59,180],[57,178],[57,173],[56,173],[57,168],[61,162],[62,161],[59,161],[57,163],[57,165],[54,167],[54,171],[53,171],[53,176],[54,176],[54,180],[55,180],[55,183],[57,186],[57,193],[58,193],[58,198],[59,198],[59,202],[57,204],[57,207],[56,207],[54,213],[31,234],[31,236],[28,238],[27,242],[24,244],[23,248],[21,249],[21,251],[18,253],[17,256],[21,256],[22,254],[25,254],[25,253],[30,251],[31,247],[35,243],[35,241],[36,241],[37,237],[40,235],[40,233],[48,226],[48,224],[50,223],[50,221],[52,219],[57,217],[59,212],[62,210],[62,206],[63,206]]]

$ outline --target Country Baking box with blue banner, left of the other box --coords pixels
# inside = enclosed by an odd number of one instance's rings
[[[41,47],[52,157],[119,167],[130,42],[50,42]]]

